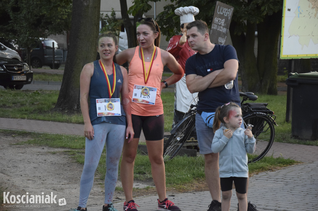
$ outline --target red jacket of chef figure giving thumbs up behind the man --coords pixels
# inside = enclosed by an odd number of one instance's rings
[[[192,50],[188,42],[180,45],[179,41],[181,36],[182,35],[174,35],[171,37],[167,51],[176,58],[176,61],[181,65],[185,73],[185,61],[187,61],[190,56],[197,53],[197,51]]]

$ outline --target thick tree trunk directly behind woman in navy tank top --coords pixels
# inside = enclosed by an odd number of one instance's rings
[[[73,1],[70,45],[55,111],[79,112],[79,76],[85,64],[96,58],[100,1]]]

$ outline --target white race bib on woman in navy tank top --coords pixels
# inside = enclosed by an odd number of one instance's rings
[[[121,116],[121,106],[119,98],[96,99],[97,116]]]

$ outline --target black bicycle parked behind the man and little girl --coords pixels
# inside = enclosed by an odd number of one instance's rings
[[[266,107],[268,103],[244,103],[247,100],[257,100],[257,95],[252,92],[240,92],[239,94],[242,97],[240,105],[244,126],[246,128],[248,124],[253,125],[252,133],[256,139],[255,152],[248,156],[248,163],[253,163],[264,157],[271,148],[275,137],[274,125],[278,125],[275,122],[274,112]],[[163,148],[164,161],[175,157],[187,142],[195,126],[196,110],[196,105],[191,105],[184,118],[170,131],[171,135]]]

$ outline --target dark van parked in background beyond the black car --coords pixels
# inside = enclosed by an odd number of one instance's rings
[[[31,49],[31,66],[41,68],[43,65],[53,68],[53,43],[54,43],[54,69],[58,69],[63,61],[63,49],[52,39],[38,41],[35,48]],[[26,50],[22,49],[21,58],[26,61]]]

